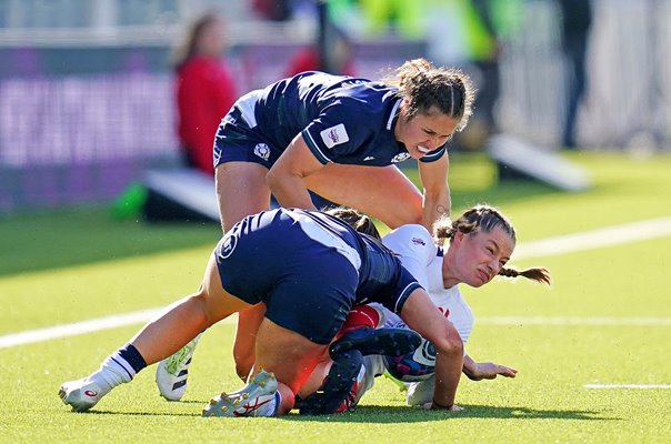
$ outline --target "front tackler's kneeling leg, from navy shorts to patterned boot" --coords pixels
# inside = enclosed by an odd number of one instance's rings
[[[352,258],[357,253],[338,252],[352,248],[327,231],[321,234],[329,239],[320,241],[294,223],[287,226],[286,232],[273,233],[278,239],[273,249],[282,249],[282,254],[278,250],[281,273],[264,297],[267,312],[257,333],[252,372],[261,375],[261,383],[277,386],[279,398],[273,401],[270,395],[276,392],[264,391],[254,376],[242,390],[217,396],[206,406],[206,416],[267,416],[288,412],[298,390],[328,356],[328,345],[355,300],[359,274]],[[340,244],[338,250],[333,243]],[[266,252],[271,253],[274,251]],[[261,370],[273,372],[277,380]],[[270,410],[271,405],[277,408]]]

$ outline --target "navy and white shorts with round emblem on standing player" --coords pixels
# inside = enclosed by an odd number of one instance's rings
[[[287,147],[273,147],[253,121],[256,91],[240,98],[223,118],[214,138],[214,168],[226,162],[253,162],[267,169]],[[251,124],[250,124],[251,120]]]

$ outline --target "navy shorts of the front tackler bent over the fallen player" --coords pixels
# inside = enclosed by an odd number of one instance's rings
[[[227,292],[250,304],[264,302],[266,317],[318,344],[331,342],[355,300],[352,261],[311,239],[281,210],[236,224],[214,255]]]

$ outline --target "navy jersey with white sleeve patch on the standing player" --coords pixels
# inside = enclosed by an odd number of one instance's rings
[[[309,71],[266,88],[254,109],[259,129],[284,150],[298,133],[323,164],[385,167],[410,158],[393,128],[397,88],[367,79]],[[440,159],[445,147],[424,155]]]

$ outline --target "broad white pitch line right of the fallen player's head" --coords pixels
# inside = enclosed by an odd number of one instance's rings
[[[671,218],[652,219],[523,243],[515,248],[513,258],[519,260],[550,256],[644,241],[665,235],[671,235]]]

